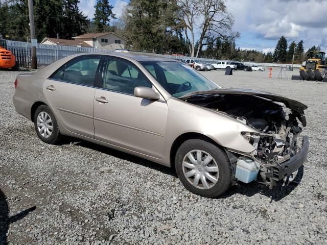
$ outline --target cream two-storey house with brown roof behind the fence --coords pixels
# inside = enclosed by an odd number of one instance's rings
[[[106,50],[124,49],[125,38],[113,32],[102,33],[86,33],[77,37],[73,37],[76,41],[83,41],[95,48],[103,48]]]

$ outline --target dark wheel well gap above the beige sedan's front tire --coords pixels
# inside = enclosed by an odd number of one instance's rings
[[[219,148],[223,149],[221,145],[219,145],[217,142],[215,142],[208,136],[205,136],[205,135],[199,134],[199,133],[184,133],[175,139],[175,141],[172,145],[172,148],[170,149],[170,158],[169,159],[170,159],[170,165],[172,168],[175,167],[175,156],[176,156],[176,152],[177,152],[179,146],[183,142],[185,142],[186,140],[189,140],[189,139],[202,139],[202,140],[210,142],[210,143],[218,146]]]

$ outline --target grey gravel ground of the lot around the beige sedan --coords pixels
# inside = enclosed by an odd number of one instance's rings
[[[207,199],[170,168],[77,139],[43,143],[12,104],[20,72],[0,71],[0,244],[327,243],[326,83],[277,79],[278,70],[272,79],[269,71],[202,72],[223,87],[307,104],[302,134],[311,140],[299,184],[237,184]]]

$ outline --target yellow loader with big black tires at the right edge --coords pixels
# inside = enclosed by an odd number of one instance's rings
[[[327,68],[325,64],[325,53],[320,51],[310,52],[310,58],[303,62],[305,64],[300,67],[300,76],[292,76],[292,80],[327,80]]]

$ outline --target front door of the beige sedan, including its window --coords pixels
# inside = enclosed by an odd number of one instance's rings
[[[124,59],[106,58],[102,87],[95,92],[95,138],[157,159],[161,158],[168,107],[133,95],[152,87],[145,75]]]

